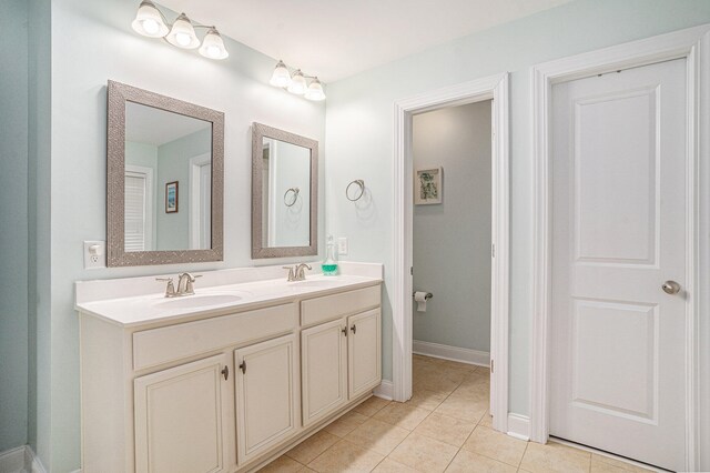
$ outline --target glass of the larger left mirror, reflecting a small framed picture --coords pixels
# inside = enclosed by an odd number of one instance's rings
[[[126,252],[209,249],[211,178],[211,122],[125,103]]]

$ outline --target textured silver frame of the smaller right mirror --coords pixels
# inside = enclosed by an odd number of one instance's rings
[[[311,150],[311,235],[308,246],[263,246],[262,177],[264,138]],[[312,256],[318,254],[318,142],[262,123],[252,123],[252,259]]]

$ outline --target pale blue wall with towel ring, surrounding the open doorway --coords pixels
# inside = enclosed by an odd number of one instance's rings
[[[532,304],[529,68],[707,22],[707,0],[578,0],[329,84],[327,229],[349,238],[348,260],[385,263],[385,379],[392,379],[393,103],[476,78],[511,73],[510,410],[528,414]],[[373,210],[366,217],[342,195],[353,179],[364,179],[372,192]]]

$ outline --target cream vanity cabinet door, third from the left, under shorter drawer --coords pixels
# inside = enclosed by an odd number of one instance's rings
[[[347,331],[345,320],[301,332],[303,425],[347,402]]]

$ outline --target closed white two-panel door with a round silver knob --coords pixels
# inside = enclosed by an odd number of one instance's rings
[[[556,84],[551,110],[550,435],[682,470],[686,60]]]

